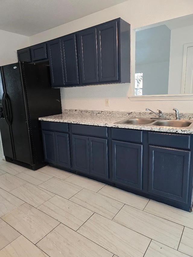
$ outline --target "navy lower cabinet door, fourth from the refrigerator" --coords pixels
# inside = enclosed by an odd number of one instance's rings
[[[89,137],[90,174],[108,178],[107,139]]]

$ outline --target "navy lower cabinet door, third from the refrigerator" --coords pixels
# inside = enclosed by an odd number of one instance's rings
[[[72,135],[73,169],[89,173],[88,136]]]

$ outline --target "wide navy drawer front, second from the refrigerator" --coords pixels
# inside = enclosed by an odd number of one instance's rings
[[[71,124],[71,128],[72,128],[73,134],[107,137],[107,128],[106,127]]]

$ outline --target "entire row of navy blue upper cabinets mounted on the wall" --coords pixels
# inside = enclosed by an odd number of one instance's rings
[[[117,18],[17,54],[19,61],[49,61],[52,87],[129,83],[130,24]]]

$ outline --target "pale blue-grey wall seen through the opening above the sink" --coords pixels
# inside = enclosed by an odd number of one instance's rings
[[[143,73],[143,95],[168,94],[170,32],[161,25],[135,33],[135,73]]]

